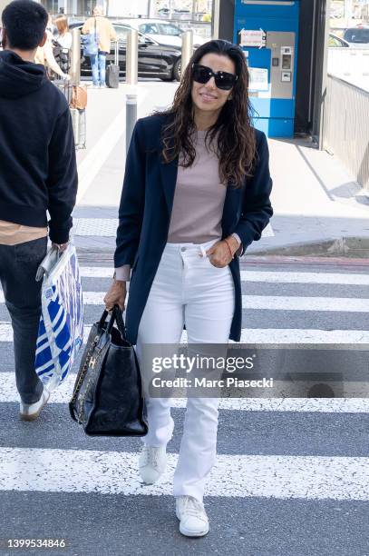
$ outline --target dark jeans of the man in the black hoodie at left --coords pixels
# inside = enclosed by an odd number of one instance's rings
[[[34,278],[46,246],[46,237],[0,245],[0,281],[14,332],[16,387],[24,403],[37,402],[43,392],[43,383],[34,371],[42,282]]]

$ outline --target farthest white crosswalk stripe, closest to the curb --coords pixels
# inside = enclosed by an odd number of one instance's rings
[[[111,278],[112,267],[80,266],[83,278]],[[343,285],[369,285],[368,274],[350,273],[286,273],[241,271],[242,282],[259,283],[321,283]]]

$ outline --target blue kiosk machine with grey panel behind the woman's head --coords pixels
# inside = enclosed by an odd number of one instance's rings
[[[236,0],[233,40],[248,62],[253,124],[268,137],[294,134],[299,4]]]

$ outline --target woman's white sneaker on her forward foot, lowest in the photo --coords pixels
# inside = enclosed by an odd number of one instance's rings
[[[209,520],[204,504],[193,496],[176,498],[176,515],[180,520],[180,532],[186,537],[202,537],[209,532]]]

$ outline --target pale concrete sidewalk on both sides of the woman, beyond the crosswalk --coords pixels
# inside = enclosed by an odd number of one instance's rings
[[[169,105],[177,86],[140,82],[138,117]],[[78,153],[80,191],[74,212],[74,240],[83,251],[114,248],[124,175],[125,94],[131,92],[125,84],[118,90],[89,90],[88,148]],[[271,229],[248,253],[368,256],[369,197],[335,156],[318,151],[307,138],[269,139],[268,144],[274,216]]]

